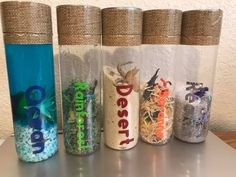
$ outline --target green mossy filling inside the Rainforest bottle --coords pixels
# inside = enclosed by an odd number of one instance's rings
[[[63,122],[64,122],[64,143],[66,151],[72,154],[86,155],[94,152],[100,143],[100,122],[99,111],[96,103],[96,95],[94,93],[97,81],[89,85],[89,88],[83,90],[84,111],[87,116],[84,119],[84,129],[77,127],[77,111],[76,111],[76,87],[80,81],[71,81],[69,86],[62,93],[63,102]],[[78,145],[77,134],[83,131],[85,141],[88,148],[81,150]]]

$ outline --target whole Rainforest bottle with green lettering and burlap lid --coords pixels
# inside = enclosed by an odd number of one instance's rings
[[[62,5],[57,21],[65,149],[87,155],[100,147],[101,11]]]

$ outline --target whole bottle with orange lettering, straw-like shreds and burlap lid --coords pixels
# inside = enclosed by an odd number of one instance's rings
[[[176,49],[182,12],[174,9],[143,13],[140,136],[162,145],[172,137]]]

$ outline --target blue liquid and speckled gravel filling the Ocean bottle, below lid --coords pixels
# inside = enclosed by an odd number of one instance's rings
[[[58,148],[51,44],[6,44],[6,61],[18,157],[38,162]]]

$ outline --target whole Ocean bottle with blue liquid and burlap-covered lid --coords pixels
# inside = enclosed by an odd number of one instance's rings
[[[16,151],[23,161],[42,161],[58,145],[51,10],[16,1],[1,7]]]

